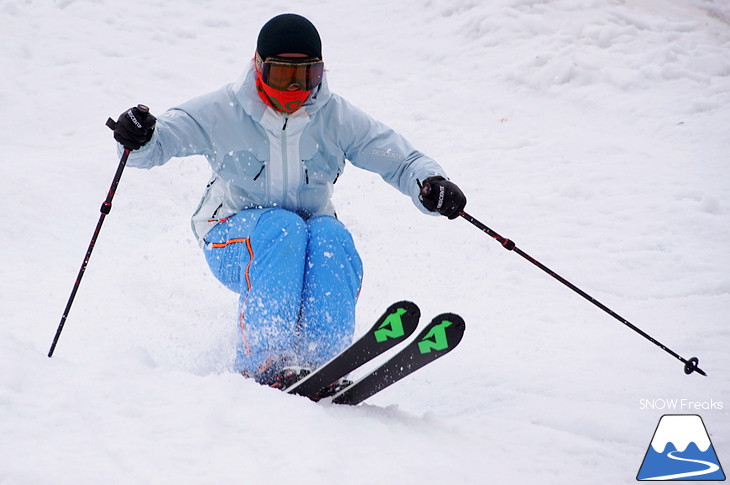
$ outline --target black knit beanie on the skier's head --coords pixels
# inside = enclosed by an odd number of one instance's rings
[[[322,59],[322,41],[312,22],[301,15],[277,15],[261,27],[256,51],[262,59],[288,52]]]

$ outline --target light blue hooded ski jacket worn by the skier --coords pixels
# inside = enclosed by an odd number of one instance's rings
[[[242,78],[158,117],[152,139],[127,164],[151,168],[172,157],[204,155],[213,174],[193,214],[196,238],[250,208],[281,207],[303,218],[334,215],[333,185],[345,160],[411,197],[419,181],[446,177],[401,135],[330,92],[324,79],[302,108],[286,115],[256,92],[253,63]],[[120,146],[121,150],[121,146]]]

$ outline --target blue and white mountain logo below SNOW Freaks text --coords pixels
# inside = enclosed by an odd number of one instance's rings
[[[725,480],[702,418],[696,414],[662,416],[636,479]]]

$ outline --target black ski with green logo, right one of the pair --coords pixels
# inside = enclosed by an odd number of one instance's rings
[[[385,364],[337,393],[332,402],[350,405],[363,402],[450,352],[461,342],[465,328],[466,324],[459,315],[453,313],[438,315],[415,340]]]

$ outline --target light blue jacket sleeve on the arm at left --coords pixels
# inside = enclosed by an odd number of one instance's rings
[[[189,109],[199,106],[204,106],[204,100],[196,98],[160,115],[152,139],[139,150],[132,151],[127,164],[137,168],[152,168],[167,163],[173,157],[209,155],[213,151],[210,136],[196,116],[191,114],[196,110]],[[124,148],[117,145],[121,153]]]

